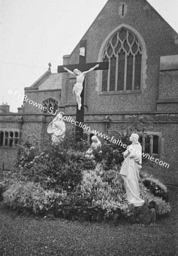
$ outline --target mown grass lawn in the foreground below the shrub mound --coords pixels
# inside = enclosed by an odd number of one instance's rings
[[[177,188],[171,216],[141,224],[97,224],[18,216],[0,209],[0,255],[178,255]]]

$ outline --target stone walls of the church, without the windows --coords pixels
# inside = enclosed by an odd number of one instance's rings
[[[106,133],[108,122],[111,129],[121,130],[133,119],[141,119],[146,131],[161,134],[159,159],[169,164],[169,168],[157,164],[150,172],[164,183],[177,184],[178,35],[147,1],[109,0],[82,37],[82,40],[86,40],[86,62],[102,61],[107,43],[122,28],[133,33],[142,48],[141,88],[129,93],[102,92],[102,71],[88,73],[85,84],[85,125]],[[71,55],[63,57],[64,65],[78,63],[79,46],[80,43]],[[72,94],[74,82],[74,77],[68,73],[51,74],[49,68],[38,81],[25,88],[25,94],[30,100],[39,103],[49,97],[55,98],[59,102],[58,112],[75,119],[76,98]],[[11,123],[20,126],[21,123],[22,137],[35,134],[49,138],[47,126],[53,117],[24,102],[19,114],[0,114],[3,119],[0,125],[7,127]],[[66,126],[69,125],[66,123]],[[0,150],[5,152],[0,164],[9,159],[10,167],[14,162],[12,159],[15,159],[15,151]]]

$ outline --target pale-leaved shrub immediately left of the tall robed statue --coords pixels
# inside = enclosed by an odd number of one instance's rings
[[[125,216],[129,214],[128,201],[118,172],[104,172],[100,167],[96,171],[85,171],[80,189],[82,194],[90,194],[93,206],[104,210],[105,216],[108,217],[117,209]]]

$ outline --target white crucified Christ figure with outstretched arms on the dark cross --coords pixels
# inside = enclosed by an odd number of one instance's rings
[[[88,73],[90,71],[93,71],[95,68],[98,68],[98,67],[99,67],[99,64],[97,64],[93,68],[90,68],[88,71],[84,71],[84,72],[81,72],[77,68],[74,69],[73,72],[70,71],[68,68],[64,68],[65,71],[67,71],[68,73],[76,76],[77,82],[76,82],[76,84],[74,84],[72,92],[73,92],[73,94],[74,93],[76,94],[76,100],[77,100],[77,103],[78,103],[78,109],[79,110],[81,109],[81,97],[80,97],[80,94],[81,94],[82,89],[83,89],[83,82],[84,82],[84,79],[85,79],[85,75],[86,75],[86,73]]]

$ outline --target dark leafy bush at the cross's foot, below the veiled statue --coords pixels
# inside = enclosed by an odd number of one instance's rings
[[[40,183],[44,189],[72,191],[82,180],[82,170],[94,169],[95,162],[85,159],[85,142],[74,143],[69,138],[66,137],[59,146],[49,144],[43,152],[39,152],[38,146],[36,149],[35,146],[24,143],[20,146],[21,155],[16,168],[7,177],[7,182],[10,183],[10,179],[32,181]]]

